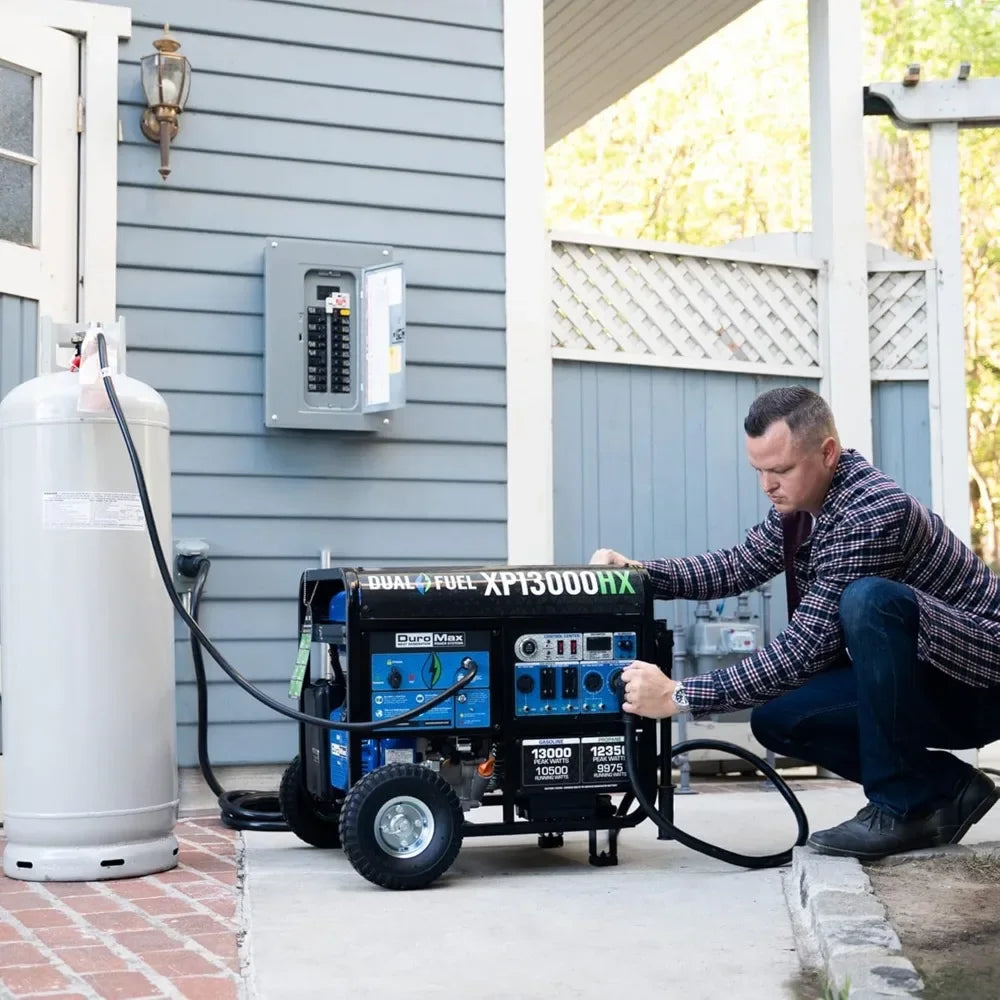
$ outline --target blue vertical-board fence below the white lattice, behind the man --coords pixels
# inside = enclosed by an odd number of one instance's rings
[[[555,362],[553,382],[555,552],[564,564],[586,562],[601,547],[651,558],[740,542],[768,509],[744,450],[751,401],[793,382],[819,388],[806,379],[573,361]],[[929,503],[926,383],[876,383],[873,408],[875,464]],[[777,631],[788,620],[784,574],[771,595]],[[750,606],[762,613],[760,594]],[[661,611],[683,628],[694,608],[672,601]],[[724,614],[735,611],[730,599]]]

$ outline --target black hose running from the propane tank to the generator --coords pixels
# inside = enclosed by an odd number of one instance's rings
[[[108,394],[108,399],[111,402],[111,409],[114,412],[115,420],[118,422],[118,429],[122,432],[122,437],[125,439],[125,448],[128,451],[129,462],[132,465],[132,474],[135,476],[135,484],[139,489],[139,502],[142,504],[142,513],[146,519],[146,531],[149,535],[149,541],[153,546],[153,555],[156,557],[156,566],[160,571],[160,578],[163,580],[163,586],[166,588],[167,596],[170,598],[170,603],[173,604],[174,609],[177,614],[180,615],[181,621],[191,630],[193,636],[197,636],[198,641],[208,650],[209,655],[219,664],[220,667],[229,675],[232,680],[234,680],[247,694],[251,697],[256,698],[261,704],[267,705],[268,708],[279,713],[279,715],[284,715],[289,719],[294,719],[296,722],[305,722],[311,726],[319,726],[321,729],[336,729],[340,732],[348,733],[370,733],[373,730],[385,730],[393,726],[399,725],[403,722],[409,722],[410,719],[416,718],[418,715],[423,715],[424,712],[434,708],[436,705],[440,705],[443,701],[448,698],[454,697],[459,691],[462,690],[467,684],[471,684],[476,674],[479,672],[478,664],[471,657],[467,656],[462,660],[462,669],[466,671],[465,676],[456,681],[450,688],[442,691],[440,694],[435,695],[433,698],[425,701],[422,705],[417,708],[410,709],[408,712],[403,712],[400,715],[394,715],[392,719],[386,722],[334,722],[332,719],[324,719],[321,715],[308,715],[305,712],[300,712],[298,709],[288,708],[287,705],[282,705],[280,701],[272,698],[270,695],[265,694],[263,691],[255,688],[216,648],[215,643],[207,635],[205,635],[201,626],[188,614],[187,608],[184,607],[183,602],[174,589],[173,578],[170,573],[170,567],[167,565],[167,560],[163,555],[163,546],[160,544],[160,535],[156,530],[156,520],[153,517],[153,507],[149,502],[149,491],[146,488],[146,477],[142,472],[142,463],[139,461],[139,453],[135,449],[135,442],[132,440],[132,435],[128,429],[128,423],[125,420],[125,414],[122,412],[121,402],[118,399],[118,393],[115,390],[115,384],[112,380],[112,373],[108,368],[108,344],[105,340],[103,333],[97,334],[97,355],[101,363],[101,378],[104,380],[104,388]]]

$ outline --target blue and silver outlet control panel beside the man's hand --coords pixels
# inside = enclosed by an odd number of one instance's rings
[[[635,632],[543,632],[514,644],[514,714],[619,712],[614,686],[635,659]]]

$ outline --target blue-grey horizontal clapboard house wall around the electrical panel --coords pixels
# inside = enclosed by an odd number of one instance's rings
[[[118,309],[173,426],[173,533],[210,546],[202,624],[284,700],[299,575],[506,557],[500,0],[135,0],[122,46]],[[193,82],[172,173],[139,131],[165,21]],[[377,439],[269,431],[268,236],[391,245],[408,404]],[[207,659],[207,657],[206,657]],[[207,663],[213,763],[287,761],[295,725]],[[178,628],[178,748],[196,702]],[[291,704],[291,703],[290,703]]]

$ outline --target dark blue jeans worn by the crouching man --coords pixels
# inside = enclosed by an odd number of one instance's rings
[[[859,782],[871,803],[901,819],[950,802],[972,768],[943,750],[1000,739],[1000,687],[970,687],[921,662],[919,619],[903,584],[848,584],[840,622],[850,660],[754,709],[758,741]]]

